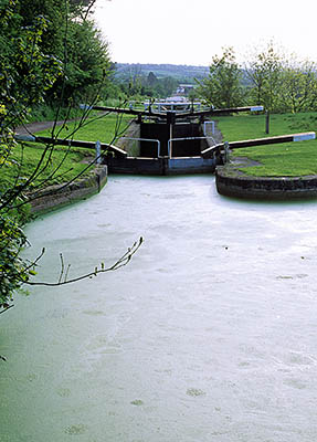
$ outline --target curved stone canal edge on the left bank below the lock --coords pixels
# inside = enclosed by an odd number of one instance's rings
[[[76,179],[68,186],[50,186],[31,194],[31,213],[42,214],[98,193],[108,178],[107,166],[96,166],[89,176]]]

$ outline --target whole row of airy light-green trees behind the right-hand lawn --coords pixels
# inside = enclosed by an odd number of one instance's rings
[[[317,109],[317,65],[286,55],[274,41],[255,49],[244,65],[229,48],[214,55],[207,78],[198,81],[200,97],[215,107],[260,104],[268,112]]]

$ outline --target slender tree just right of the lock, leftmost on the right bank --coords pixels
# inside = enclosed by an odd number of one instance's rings
[[[221,55],[212,57],[207,78],[197,81],[197,93],[209,105],[233,107],[243,103],[242,72],[232,48],[224,48]]]

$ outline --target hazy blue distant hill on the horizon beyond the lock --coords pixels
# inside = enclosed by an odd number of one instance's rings
[[[208,75],[208,66],[191,66],[186,64],[129,64],[116,63],[116,77],[128,78],[131,76],[148,75],[152,72],[158,78],[167,76],[194,83],[194,78],[203,78]]]

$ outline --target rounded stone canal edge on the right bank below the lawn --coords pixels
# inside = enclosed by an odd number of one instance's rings
[[[243,167],[251,165],[246,160]],[[285,201],[317,197],[317,176],[252,177],[241,170],[239,159],[216,168],[215,186],[218,192],[225,197],[253,200]]]

